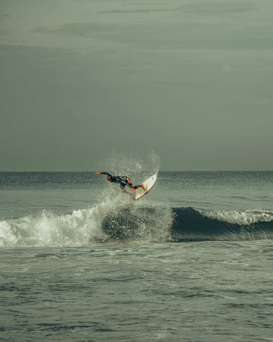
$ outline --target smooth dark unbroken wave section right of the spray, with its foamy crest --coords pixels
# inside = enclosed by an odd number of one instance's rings
[[[179,242],[242,241],[273,238],[273,211],[264,209],[214,211],[175,208],[172,236]]]

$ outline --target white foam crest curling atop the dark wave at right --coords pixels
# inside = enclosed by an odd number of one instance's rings
[[[215,211],[209,209],[196,209],[203,216],[223,222],[247,225],[255,222],[269,222],[273,220],[273,211],[261,208],[245,210]]]

